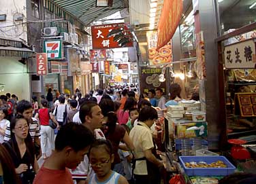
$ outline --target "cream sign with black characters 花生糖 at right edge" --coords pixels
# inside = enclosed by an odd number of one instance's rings
[[[226,69],[255,69],[255,42],[253,39],[227,45],[224,48]]]

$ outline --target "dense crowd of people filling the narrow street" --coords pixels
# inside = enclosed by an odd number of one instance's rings
[[[51,92],[39,102],[33,96],[32,103],[0,96],[4,183],[161,183],[152,127],[167,105],[182,100],[178,84],[167,102],[161,89],[142,95],[123,89],[122,96],[111,89],[84,96],[76,90],[55,100]]]

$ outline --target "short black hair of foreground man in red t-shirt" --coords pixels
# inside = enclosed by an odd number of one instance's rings
[[[93,141],[95,141],[95,137],[89,128],[82,124],[65,124],[58,131],[55,139],[55,149],[62,151],[65,147],[69,146],[78,152],[90,146]]]

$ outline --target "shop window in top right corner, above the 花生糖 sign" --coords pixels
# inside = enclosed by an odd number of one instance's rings
[[[221,35],[230,33],[256,20],[256,3],[251,0],[217,0]]]

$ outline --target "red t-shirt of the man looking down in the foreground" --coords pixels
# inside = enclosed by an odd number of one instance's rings
[[[65,170],[52,170],[48,168],[39,169],[33,184],[74,184],[71,173],[66,168]]]

